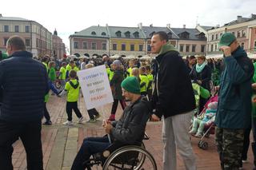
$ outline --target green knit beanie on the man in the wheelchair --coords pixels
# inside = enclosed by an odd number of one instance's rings
[[[137,77],[127,77],[125,80],[122,81],[121,87],[123,89],[126,89],[126,91],[130,93],[141,93]]]

